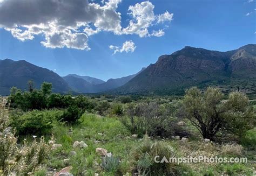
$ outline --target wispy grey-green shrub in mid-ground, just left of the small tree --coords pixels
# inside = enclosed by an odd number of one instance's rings
[[[158,103],[130,104],[127,116],[122,117],[121,122],[139,137],[146,132],[149,136],[169,137],[174,132],[172,113],[170,107]]]

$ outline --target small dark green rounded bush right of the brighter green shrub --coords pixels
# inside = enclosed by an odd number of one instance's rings
[[[59,120],[68,123],[76,123],[83,113],[84,111],[76,105],[70,105],[70,107],[64,110]]]

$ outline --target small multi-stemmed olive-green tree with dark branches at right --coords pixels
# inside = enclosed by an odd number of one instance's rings
[[[254,111],[248,104],[247,96],[238,91],[224,100],[219,88],[208,87],[202,93],[192,87],[186,90],[182,110],[204,138],[214,140],[225,132],[242,136],[246,130],[253,128]]]

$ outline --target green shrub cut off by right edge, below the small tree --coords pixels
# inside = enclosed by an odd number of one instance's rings
[[[241,143],[249,149],[256,150],[256,128],[246,131]]]

